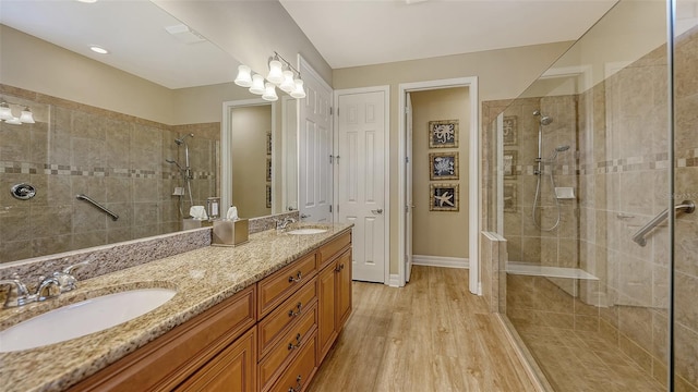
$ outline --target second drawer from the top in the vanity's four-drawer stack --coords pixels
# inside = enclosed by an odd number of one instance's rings
[[[286,332],[285,329],[309,313],[309,309],[316,302],[315,280],[313,279],[260,321],[260,358],[263,358],[272,350],[272,345],[281,339]]]

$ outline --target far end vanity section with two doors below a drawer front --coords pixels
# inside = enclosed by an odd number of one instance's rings
[[[317,274],[317,365],[351,314],[351,236],[341,236],[323,246]]]

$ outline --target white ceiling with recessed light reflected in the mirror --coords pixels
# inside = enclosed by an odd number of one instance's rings
[[[189,30],[169,34],[186,26],[146,0],[0,0],[0,23],[172,89],[236,76],[232,56]]]

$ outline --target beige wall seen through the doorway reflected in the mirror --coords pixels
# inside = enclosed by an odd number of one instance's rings
[[[272,212],[266,207],[266,134],[272,131],[272,106],[251,106],[231,110],[232,205],[242,218]],[[270,184],[270,183],[269,183]]]

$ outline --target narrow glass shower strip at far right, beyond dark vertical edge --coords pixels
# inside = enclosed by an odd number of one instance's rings
[[[674,189],[671,203],[698,200],[698,3],[675,2]],[[674,221],[673,387],[698,391],[698,213]]]

